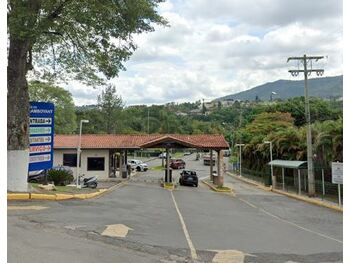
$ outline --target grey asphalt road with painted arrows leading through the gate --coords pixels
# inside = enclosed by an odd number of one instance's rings
[[[194,156],[186,159],[208,176]],[[235,196],[205,185],[168,191],[157,183],[162,176],[139,173],[97,199],[9,203],[47,208],[8,210],[8,262],[342,262],[339,212],[228,176]],[[131,230],[103,236],[113,224]]]

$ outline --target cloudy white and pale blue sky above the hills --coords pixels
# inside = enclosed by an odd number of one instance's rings
[[[194,102],[278,79],[300,80],[290,56],[323,55],[314,68],[343,74],[340,0],[167,0],[169,27],[135,35],[138,49],[111,80],[126,105]],[[316,77],[316,76],[315,76]],[[100,89],[71,82],[76,105],[95,104]]]

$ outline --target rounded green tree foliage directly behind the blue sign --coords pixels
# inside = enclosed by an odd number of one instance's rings
[[[74,133],[76,115],[72,94],[52,83],[39,81],[29,82],[29,98],[31,101],[52,102],[55,104],[55,133]]]

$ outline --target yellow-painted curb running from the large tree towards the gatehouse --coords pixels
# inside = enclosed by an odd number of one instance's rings
[[[108,189],[99,189],[98,192],[87,194],[37,194],[37,193],[7,193],[7,200],[46,200],[46,201],[62,201],[70,199],[91,199],[101,196],[104,193],[113,191],[115,188],[122,186],[123,183],[114,185]]]

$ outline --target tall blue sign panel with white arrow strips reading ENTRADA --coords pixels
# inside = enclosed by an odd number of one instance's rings
[[[30,102],[29,171],[52,168],[54,111],[53,103]]]

